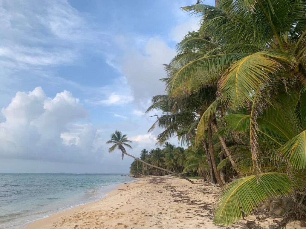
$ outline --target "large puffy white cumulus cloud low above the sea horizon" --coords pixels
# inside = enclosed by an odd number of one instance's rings
[[[17,92],[1,113],[1,158],[86,162],[102,155],[101,136],[91,124],[77,124],[88,112],[68,91],[54,98],[41,87]]]

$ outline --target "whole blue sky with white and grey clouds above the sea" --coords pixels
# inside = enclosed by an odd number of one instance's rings
[[[135,156],[156,147],[144,112],[199,28],[180,9],[195,2],[0,0],[0,173],[128,173],[106,141],[118,129]]]

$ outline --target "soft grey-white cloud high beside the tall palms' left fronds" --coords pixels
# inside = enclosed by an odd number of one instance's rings
[[[164,84],[159,81],[166,76],[162,64],[168,64],[175,54],[174,49],[157,37],[149,38],[143,50],[125,51],[121,72],[138,104],[147,107],[152,96],[164,93]]]

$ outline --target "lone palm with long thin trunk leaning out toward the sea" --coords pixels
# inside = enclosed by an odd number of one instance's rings
[[[182,176],[181,174],[177,174],[175,172],[172,172],[172,171],[170,171],[168,169],[164,169],[164,168],[158,167],[156,165],[151,165],[151,164],[141,160],[140,158],[136,158],[133,155],[128,154],[126,152],[126,150],[125,150],[125,147],[128,147],[128,148],[132,149],[132,146],[130,146],[128,144],[128,143],[131,143],[131,142],[132,141],[128,140],[127,134],[122,134],[120,131],[116,130],[115,133],[111,134],[111,139],[106,142],[107,144],[113,144],[113,146],[111,146],[108,149],[108,152],[111,153],[111,152],[113,152],[117,148],[122,153],[121,154],[122,160],[124,158],[124,155],[127,155],[127,156],[133,158],[134,160],[137,160],[137,161],[140,161],[140,162],[144,163],[145,165],[151,166],[151,167],[153,167],[155,169],[163,170],[163,171],[165,171],[167,173],[171,173],[171,174],[173,174],[175,176],[180,176],[180,177],[184,178],[185,180],[188,180],[190,183],[194,184],[194,182],[192,180],[189,180],[188,178],[186,178],[185,176]]]

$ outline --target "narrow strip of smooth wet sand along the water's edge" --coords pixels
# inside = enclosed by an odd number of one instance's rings
[[[61,211],[58,211],[58,212],[54,212],[54,213],[51,213],[50,215],[47,215],[47,216],[43,216],[42,218],[38,218],[38,219],[35,219],[31,222],[28,222],[27,224],[24,224],[21,228],[25,228],[25,229],[31,229],[31,228],[40,228],[40,223],[39,225],[36,225],[36,222],[37,221],[40,221],[40,220],[46,220],[46,221],[49,221],[47,219],[50,218],[50,220],[53,220],[53,219],[57,219],[58,217],[62,217],[62,216],[66,216],[66,215],[69,215],[69,214],[73,214],[74,212],[77,212],[79,211],[80,209],[83,209],[83,206],[84,205],[89,205],[89,204],[94,204],[95,202],[99,202],[101,201],[102,199],[104,198],[107,198],[108,196],[110,196],[113,192],[115,192],[121,185],[126,185],[126,184],[130,184],[130,183],[133,183],[133,182],[137,182],[139,181],[141,178],[135,178],[135,180],[132,180],[132,181],[127,181],[125,183],[119,183],[119,184],[114,184],[114,187],[110,190],[110,191],[106,191],[104,193],[104,196],[102,196],[101,198],[99,198],[98,200],[94,200],[94,201],[90,201],[90,202],[86,202],[86,203],[82,203],[82,204],[79,204],[79,205],[75,205],[75,206],[71,206],[69,207],[68,209],[65,209],[65,210],[61,210]],[[45,223],[45,222],[43,222]]]

